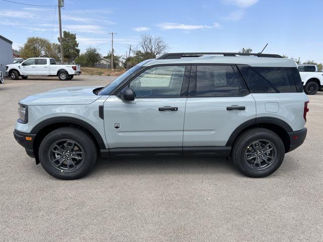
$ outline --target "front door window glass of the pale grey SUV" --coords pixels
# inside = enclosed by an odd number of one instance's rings
[[[136,97],[179,97],[185,66],[153,67],[137,76],[128,87]]]

